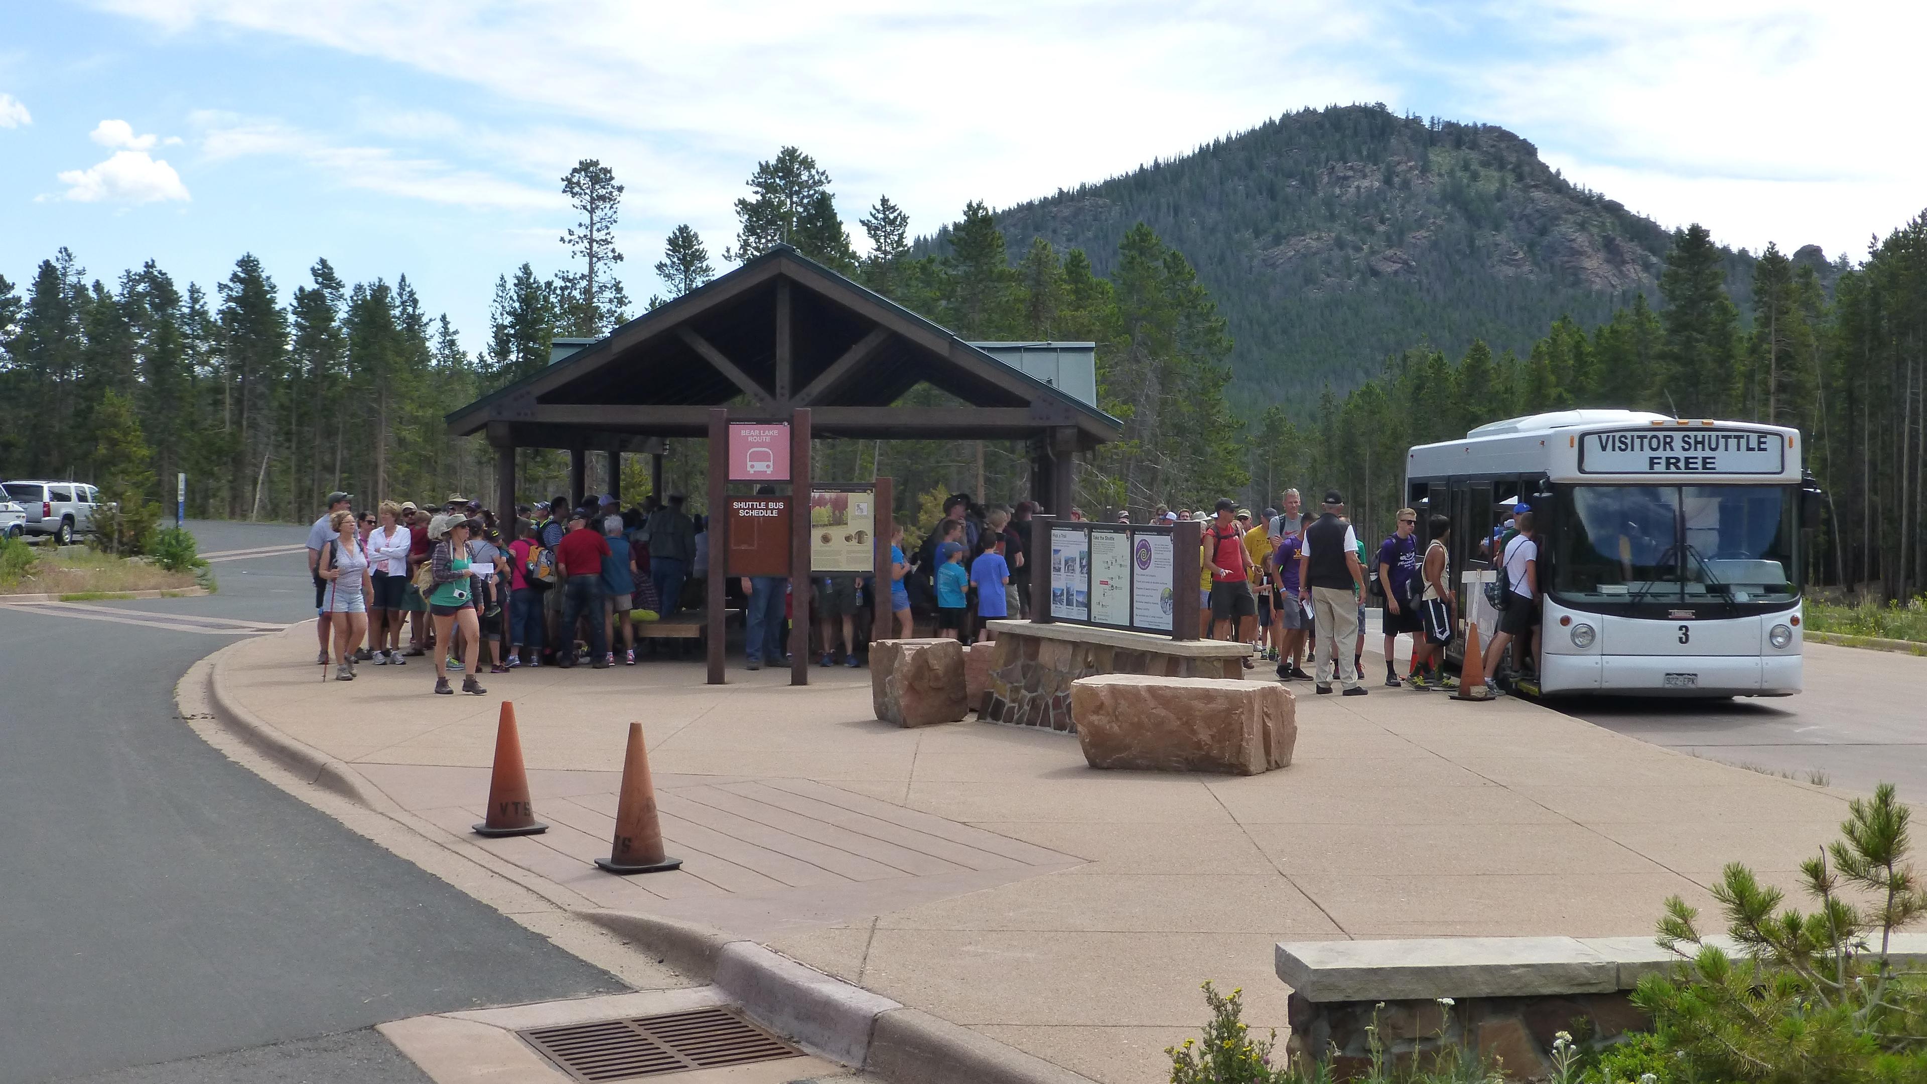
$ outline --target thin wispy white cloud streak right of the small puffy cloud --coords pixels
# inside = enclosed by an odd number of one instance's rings
[[[401,156],[383,146],[349,146],[318,133],[274,119],[243,119],[233,114],[195,114],[206,125],[200,150],[210,162],[274,156],[289,158],[326,175],[328,181],[470,208],[559,208],[561,194],[532,189],[480,169],[462,169],[436,158]]]

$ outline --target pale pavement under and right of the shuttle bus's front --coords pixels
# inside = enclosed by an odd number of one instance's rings
[[[1927,801],[1927,658],[1808,643],[1804,672],[1794,697],[1547,705],[1696,757],[1863,793],[1890,782]]]

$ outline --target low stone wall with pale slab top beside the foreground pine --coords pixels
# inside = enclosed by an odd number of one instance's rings
[[[1727,938],[1707,943],[1738,955]],[[1927,934],[1896,934],[1892,955],[1927,959]],[[1395,1059],[1455,1044],[1501,1059],[1515,1080],[1551,1072],[1557,1032],[1609,1040],[1648,1028],[1628,994],[1678,959],[1653,938],[1280,942],[1274,953],[1291,986],[1291,1051],[1333,1053],[1335,1069],[1355,1071],[1370,1061],[1376,1022]]]

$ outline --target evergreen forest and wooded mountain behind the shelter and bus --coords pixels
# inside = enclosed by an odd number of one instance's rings
[[[1800,427],[1829,491],[1809,574],[1885,597],[1927,583],[1927,216],[1860,266],[1730,252],[1569,185],[1503,129],[1382,108],[1291,114],[1008,212],[971,202],[921,241],[883,196],[858,218],[861,254],[809,154],[782,148],[746,189],[723,262],[792,245],[965,339],[1096,343],[1125,433],[1081,464],[1093,518],[1333,485],[1387,531],[1409,445],[1628,406]],[[108,285],[66,248],[0,277],[0,477],[172,504],[185,472],[191,516],[303,522],[337,487],[482,491],[488,449],[443,414],[549,364],[553,339],[636,316],[622,185],[584,160],[563,191],[567,266],[503,273],[476,348],[407,275],[345,283],[326,258],[291,291],[249,254],[212,293],[152,260]],[[717,273],[688,225],[653,270],[667,297]],[[522,454],[524,501],[565,489],[559,452]],[[647,491],[640,458],[626,499]],[[819,477],[896,477],[919,526],[948,491],[1027,493],[1025,449],[998,441],[819,441],[815,460]],[[703,441],[671,441],[667,487],[700,493],[703,462]]]

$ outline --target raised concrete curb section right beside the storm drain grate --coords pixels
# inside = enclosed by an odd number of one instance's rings
[[[759,1024],[809,1053],[902,1084],[1093,1084],[1017,1047],[871,994],[752,938],[632,911],[572,911],[713,982]]]

